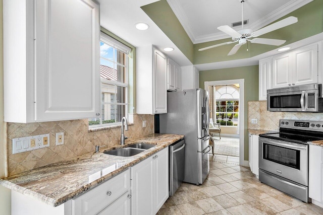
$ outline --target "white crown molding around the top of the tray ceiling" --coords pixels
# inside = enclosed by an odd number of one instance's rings
[[[272,13],[262,17],[261,19],[257,20],[254,23],[248,24],[245,27],[256,31],[270,23],[275,22],[276,20],[286,16],[287,14],[303,7],[304,5],[312,2],[313,0],[295,0],[290,1],[287,4],[283,5],[282,7],[278,8],[277,10],[273,11]],[[170,5],[171,9],[173,10],[174,14],[176,15],[177,19],[182,24],[184,30],[186,31],[187,35],[193,42],[193,44],[209,42],[214,40],[226,39],[231,38],[227,34],[223,32],[218,32],[214,34],[207,34],[196,36],[196,31],[194,27],[188,22],[187,16],[185,15],[183,8],[181,7],[178,0],[167,0],[167,3]],[[241,28],[235,28],[235,30],[239,31]]]

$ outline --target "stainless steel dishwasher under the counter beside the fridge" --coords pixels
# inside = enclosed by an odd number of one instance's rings
[[[169,146],[170,154],[170,196],[182,184],[184,179],[185,141],[179,140]]]

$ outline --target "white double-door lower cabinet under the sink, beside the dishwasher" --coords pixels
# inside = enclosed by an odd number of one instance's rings
[[[131,214],[156,214],[169,197],[168,148],[131,167]]]

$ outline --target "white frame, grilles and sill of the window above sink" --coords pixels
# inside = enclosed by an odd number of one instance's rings
[[[118,62],[115,62],[115,50],[121,51],[127,55],[126,57],[126,72],[125,72],[125,77],[124,77],[124,83],[118,82],[115,80],[107,80],[100,78],[100,107],[102,107],[103,104],[111,104],[111,105],[124,105],[124,112],[125,112],[125,117],[129,119],[129,52],[131,51],[131,48],[128,46],[124,45],[123,43],[119,42],[118,40],[112,38],[111,36],[101,32],[100,33],[100,42],[103,42],[111,47],[114,48],[114,56],[113,56],[113,63],[117,63],[117,65],[120,65]],[[100,55],[101,59],[101,55]],[[123,66],[123,65],[122,65]],[[100,67],[100,66],[99,66]],[[99,74],[100,75],[100,74]],[[109,85],[114,85],[116,87],[124,87],[125,88],[125,101],[124,103],[119,103],[119,102],[102,102],[102,83],[103,84],[109,84]],[[116,91],[117,93],[117,91]],[[100,108],[101,112],[101,108]],[[100,113],[100,116],[97,117],[99,118],[100,124],[95,124],[95,125],[88,125],[88,129],[95,129],[95,128],[109,128],[109,127],[115,127],[116,125],[121,125],[121,119],[120,122],[113,122],[113,123],[106,123],[102,124],[102,113]],[[90,120],[91,118],[89,118]]]

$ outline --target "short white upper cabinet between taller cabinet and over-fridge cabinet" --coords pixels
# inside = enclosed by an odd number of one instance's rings
[[[167,61],[167,90],[181,91],[181,67],[170,58]]]

